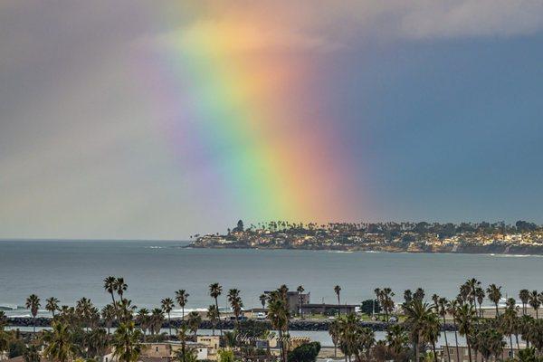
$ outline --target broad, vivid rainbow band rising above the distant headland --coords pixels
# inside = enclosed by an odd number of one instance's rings
[[[294,111],[311,91],[303,57],[263,54],[262,26],[195,24],[149,47],[141,73],[187,187],[213,193],[233,218],[352,216],[334,130],[314,127],[319,114]]]

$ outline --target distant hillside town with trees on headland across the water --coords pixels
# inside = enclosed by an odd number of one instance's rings
[[[224,234],[196,234],[191,240],[195,248],[543,254],[543,226],[526,221],[244,225],[240,220]]]

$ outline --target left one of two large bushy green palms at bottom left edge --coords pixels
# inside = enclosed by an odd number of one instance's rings
[[[45,349],[43,354],[56,362],[67,362],[76,354],[70,329],[67,324],[52,322],[52,330],[43,331]]]

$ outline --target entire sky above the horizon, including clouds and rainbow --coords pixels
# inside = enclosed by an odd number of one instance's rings
[[[543,223],[543,3],[0,3],[0,238]]]

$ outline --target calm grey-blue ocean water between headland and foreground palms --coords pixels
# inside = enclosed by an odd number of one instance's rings
[[[292,290],[302,284],[311,302],[336,302],[333,287],[341,286],[341,302],[359,303],[375,288],[390,287],[396,300],[407,288],[423,287],[452,298],[458,286],[475,277],[483,286],[502,285],[516,297],[519,289],[541,289],[539,256],[488,254],[414,254],[387,252],[326,252],[295,250],[187,249],[186,242],[140,241],[0,241],[0,306],[22,306],[31,293],[62,304],[81,297],[98,306],[110,302],[102,289],[108,275],[123,276],[126,296],[138,307],[156,307],[160,300],[185,289],[187,310],[206,308],[213,300],[207,287],[237,288],[245,308],[258,307],[262,291],[282,283]],[[178,313],[178,311],[177,311]],[[9,315],[28,314],[24,310]],[[173,316],[176,313],[173,314]]]

